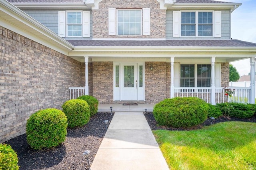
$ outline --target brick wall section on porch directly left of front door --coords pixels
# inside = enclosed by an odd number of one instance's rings
[[[92,95],[99,103],[113,103],[113,62],[93,62],[92,77]]]

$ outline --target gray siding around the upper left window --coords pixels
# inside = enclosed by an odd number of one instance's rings
[[[58,10],[23,10],[23,12],[52,30],[54,33],[58,34]],[[92,12],[90,12],[90,38],[88,37],[79,39],[92,39]]]

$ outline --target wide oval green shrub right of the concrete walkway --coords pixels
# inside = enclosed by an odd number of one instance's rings
[[[207,119],[208,104],[197,97],[164,99],[156,104],[153,115],[158,125],[167,127],[193,127]]]

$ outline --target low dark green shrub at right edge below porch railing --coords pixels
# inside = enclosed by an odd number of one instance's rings
[[[245,104],[245,103],[229,103],[233,109],[230,110],[230,116],[237,118],[250,118],[254,115],[254,107],[253,105]],[[222,113],[225,113],[225,105],[226,103],[217,103],[216,104]]]

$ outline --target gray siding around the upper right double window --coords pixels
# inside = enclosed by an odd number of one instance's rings
[[[166,40],[171,39],[230,39],[230,11],[221,11],[221,37],[200,38],[200,37],[172,37],[172,10],[166,10]]]

